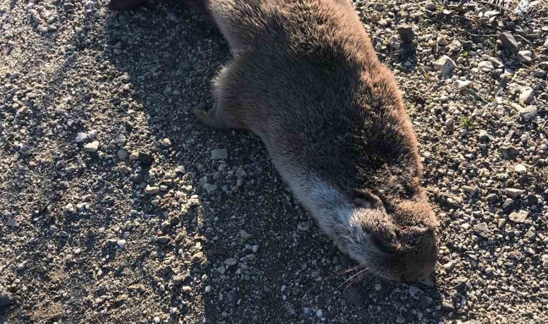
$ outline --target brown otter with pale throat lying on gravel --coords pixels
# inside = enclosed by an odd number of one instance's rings
[[[113,9],[144,0],[111,0]],[[338,248],[397,282],[429,276],[439,225],[395,77],[350,0],[187,0],[231,49],[210,127],[246,129]]]

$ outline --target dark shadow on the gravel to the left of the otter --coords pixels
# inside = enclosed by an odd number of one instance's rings
[[[165,162],[184,167],[203,200],[196,213],[206,224],[207,230],[199,234],[207,237],[204,251],[209,264],[193,265],[191,272],[207,274],[212,291],[197,288],[195,305],[185,304],[189,314],[201,304],[205,310],[202,320],[207,323],[293,323],[321,317],[333,323],[442,320],[443,312],[437,310],[441,295],[435,284],[414,284],[429,301],[411,297],[408,286],[371,278],[346,290],[345,299],[340,285],[350,275],[317,281],[352,262],[319,234],[295,204],[258,138],[208,128],[192,115],[194,106],[212,103],[210,79],[230,58],[226,42],[208,18],[182,5],[146,5],[112,13],[105,36],[109,44],[105,56],[118,71],[127,73],[131,97],[146,112],[151,136],[171,139],[174,151],[179,152]],[[224,166],[209,159],[210,150],[219,147],[229,152]],[[235,174],[240,167],[247,177],[237,190],[232,190],[237,186],[232,173],[226,179],[216,173],[224,168]],[[217,189],[207,192],[204,181]],[[252,234],[247,242],[238,242],[241,230]],[[254,245],[259,246],[256,253]],[[224,266],[228,258],[249,254],[256,259]],[[227,269],[219,272],[219,268]],[[172,305],[179,306],[184,292],[174,289],[170,294]],[[149,297],[155,299],[161,303],[165,293]]]

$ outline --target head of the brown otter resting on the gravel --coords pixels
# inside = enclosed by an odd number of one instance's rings
[[[398,282],[429,276],[437,263],[439,225],[425,197],[382,201],[369,192],[353,197],[343,245],[369,271]]]

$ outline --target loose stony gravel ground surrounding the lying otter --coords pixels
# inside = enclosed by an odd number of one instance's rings
[[[419,135],[435,276],[339,274],[260,140],[193,117],[230,55],[207,18],[0,0],[0,323],[548,322],[546,2],[355,3]]]

